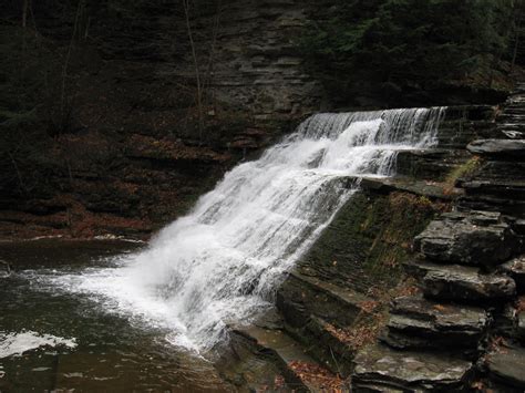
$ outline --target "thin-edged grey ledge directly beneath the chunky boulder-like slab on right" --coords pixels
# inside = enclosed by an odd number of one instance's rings
[[[488,304],[516,293],[514,280],[503,273],[482,273],[460,265],[413,261],[406,270],[422,279],[425,298],[459,303]]]

